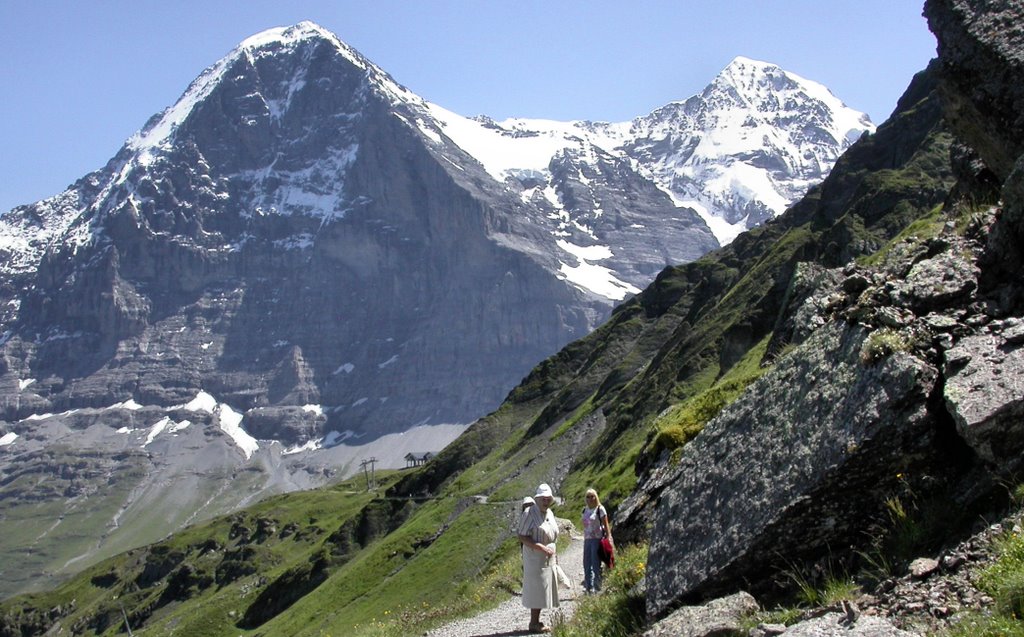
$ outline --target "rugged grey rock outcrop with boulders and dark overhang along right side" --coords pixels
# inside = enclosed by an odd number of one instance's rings
[[[939,541],[950,543],[958,516],[1020,469],[1024,306],[1007,264],[1019,258],[1024,204],[1010,105],[1024,82],[1024,7],[929,2],[926,14],[945,120],[1002,183],[1001,201],[984,205],[991,177],[975,164],[945,202],[941,231],[907,233],[872,267],[819,277],[799,311],[782,312],[807,340],[652,482],[664,491],[651,615],[739,587],[771,591],[779,559],[840,559],[901,489],[956,511]]]

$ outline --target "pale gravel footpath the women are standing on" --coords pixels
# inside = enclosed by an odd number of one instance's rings
[[[583,536],[573,534],[569,546],[558,554],[558,563],[572,582],[572,589],[558,589],[558,608],[541,612],[541,621],[551,626],[555,622],[572,617],[578,595],[583,595]],[[425,637],[513,637],[528,635],[529,610],[523,608],[519,596],[515,595],[502,602],[497,608],[465,620],[446,624],[425,633]]]

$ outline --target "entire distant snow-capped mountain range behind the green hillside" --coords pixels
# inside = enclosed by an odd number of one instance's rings
[[[730,239],[718,215],[765,220],[871,128],[742,58],[634,122],[496,123],[315,25],[250,38],[106,166],[0,217],[3,591],[440,449]]]

